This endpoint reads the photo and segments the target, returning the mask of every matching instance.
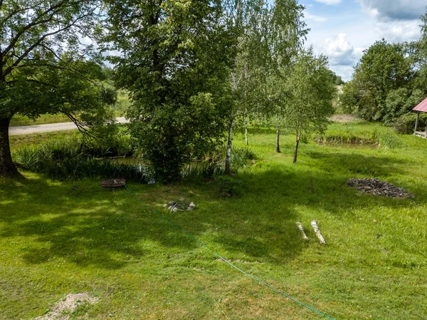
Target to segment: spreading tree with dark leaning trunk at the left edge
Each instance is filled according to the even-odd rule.
[[[78,110],[100,108],[88,80],[97,67],[86,63],[90,52],[81,43],[94,29],[100,5],[0,0],[0,175],[17,172],[8,133],[14,115],[63,112],[75,118]]]

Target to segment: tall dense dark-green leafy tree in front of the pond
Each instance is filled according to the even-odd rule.
[[[156,180],[223,139],[233,29],[221,1],[109,1],[105,41],[116,82],[130,92],[130,132]]]

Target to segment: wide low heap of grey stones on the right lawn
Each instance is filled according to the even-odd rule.
[[[369,193],[370,195],[382,195],[391,198],[415,197],[415,195],[413,195],[411,192],[379,179],[349,179],[348,185],[349,187],[355,187],[360,192]]]

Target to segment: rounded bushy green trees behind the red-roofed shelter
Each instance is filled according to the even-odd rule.
[[[406,43],[376,41],[364,51],[352,80],[342,88],[344,110],[385,124],[410,117],[427,96],[427,12],[421,16],[421,38]]]

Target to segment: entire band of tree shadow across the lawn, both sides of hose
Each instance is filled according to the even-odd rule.
[[[236,199],[213,196],[214,184],[189,185],[186,188],[194,190],[202,201],[196,211],[159,213],[228,259],[283,264],[295,259],[306,245],[295,226],[301,218],[295,210],[297,206],[336,214],[337,208],[351,212],[362,205],[406,204],[406,200],[384,197],[361,199],[354,197],[356,190],[347,188],[347,179],[356,173],[367,177],[374,173],[396,174],[403,171],[399,167],[407,165],[403,161],[310,150],[306,154],[315,169],[307,170],[307,166],[297,164],[273,165],[256,173],[241,172],[238,177],[244,182],[243,193]],[[360,166],[367,167],[366,173],[358,172]],[[43,178],[2,181],[0,238],[25,242],[25,246],[21,243],[15,249],[28,264],[62,258],[81,266],[104,269],[122,268],[162,252],[198,247],[193,239],[147,209],[126,190],[102,190],[93,180],[76,185],[73,189],[71,184]],[[156,186],[130,187],[137,197],[157,202],[167,200],[157,194]]]

